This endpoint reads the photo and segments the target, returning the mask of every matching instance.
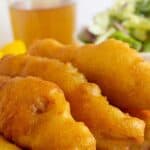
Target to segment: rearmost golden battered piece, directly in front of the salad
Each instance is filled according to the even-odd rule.
[[[64,46],[42,40],[31,47],[30,54],[72,62],[115,106],[150,109],[150,63],[121,41]]]

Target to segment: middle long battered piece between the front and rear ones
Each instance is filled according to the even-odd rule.
[[[123,150],[130,142],[144,140],[144,122],[111,106],[99,87],[87,82],[71,64],[28,55],[8,56],[0,61],[0,74],[37,76],[58,84],[70,103],[73,117],[89,127],[98,148]]]

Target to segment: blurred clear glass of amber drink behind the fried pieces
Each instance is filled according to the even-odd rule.
[[[10,0],[14,38],[27,46],[43,38],[74,43],[75,8],[73,0]]]

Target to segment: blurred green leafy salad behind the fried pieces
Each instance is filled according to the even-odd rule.
[[[101,43],[115,38],[140,52],[150,52],[150,0],[118,0],[80,33],[84,43]]]

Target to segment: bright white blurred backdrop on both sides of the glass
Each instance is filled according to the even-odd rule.
[[[76,0],[78,4],[77,29],[88,25],[92,17],[99,11],[105,10],[114,0]],[[13,40],[10,18],[8,13],[8,0],[0,0],[0,46]]]

